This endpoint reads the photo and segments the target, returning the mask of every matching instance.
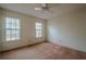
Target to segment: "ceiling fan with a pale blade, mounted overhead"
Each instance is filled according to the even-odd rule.
[[[36,11],[41,11],[41,12],[50,12],[52,13],[52,11],[50,10],[50,3],[41,3],[40,8],[35,8]]]

